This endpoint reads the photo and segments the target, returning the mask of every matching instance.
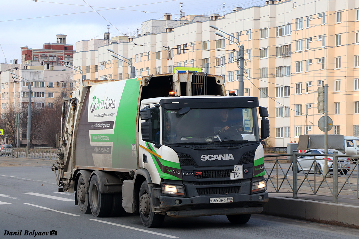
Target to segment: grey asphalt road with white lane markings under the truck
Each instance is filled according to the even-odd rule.
[[[154,229],[145,228],[138,215],[95,218],[80,213],[74,205],[74,193],[57,192],[55,175],[51,171],[54,161],[11,160],[0,157],[0,238],[49,238],[46,233],[53,230],[58,238],[76,239],[359,238],[358,229],[262,214],[252,215],[245,225],[232,225],[225,216],[167,217],[162,228]],[[9,235],[20,232],[21,235]]]

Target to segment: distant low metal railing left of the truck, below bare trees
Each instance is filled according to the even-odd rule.
[[[57,159],[58,148],[47,147],[19,147],[19,158],[38,158],[38,159]],[[5,157],[17,157],[17,148],[14,148],[13,155],[4,155]]]

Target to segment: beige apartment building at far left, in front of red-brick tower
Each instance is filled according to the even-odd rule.
[[[14,59],[13,62],[17,62]],[[32,109],[53,108],[58,97],[67,97],[79,82],[73,82],[72,70],[65,66],[48,66],[39,61],[25,61],[24,64],[0,64],[0,120],[4,120],[9,112],[23,117],[21,113],[28,108],[28,84],[31,83]],[[13,78],[14,73],[20,80]],[[77,85],[76,85],[77,83]],[[10,111],[9,111],[10,109]],[[21,122],[21,119],[20,119]],[[20,126],[21,144],[26,144],[27,125]],[[0,137],[0,143],[6,142],[6,132]],[[42,144],[37,139],[33,144]]]

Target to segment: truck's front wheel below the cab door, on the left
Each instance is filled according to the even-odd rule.
[[[139,210],[142,224],[148,228],[160,227],[164,220],[164,215],[155,214],[151,208],[151,199],[148,184],[144,181],[140,187]]]

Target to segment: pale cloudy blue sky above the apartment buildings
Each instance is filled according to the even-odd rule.
[[[0,63],[21,61],[20,47],[56,43],[56,34],[67,35],[66,43],[74,45],[103,39],[107,25],[111,37],[137,35],[143,21],[164,19],[165,13],[179,19],[180,5],[185,15],[222,16],[223,2],[225,14],[235,7],[265,5],[265,0],[0,0]]]

